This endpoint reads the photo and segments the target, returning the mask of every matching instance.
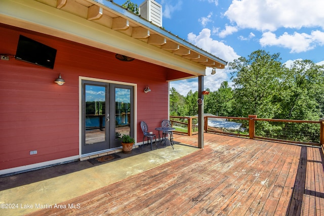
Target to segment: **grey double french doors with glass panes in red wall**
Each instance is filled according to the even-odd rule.
[[[82,80],[82,154],[121,146],[134,135],[133,86]]]

